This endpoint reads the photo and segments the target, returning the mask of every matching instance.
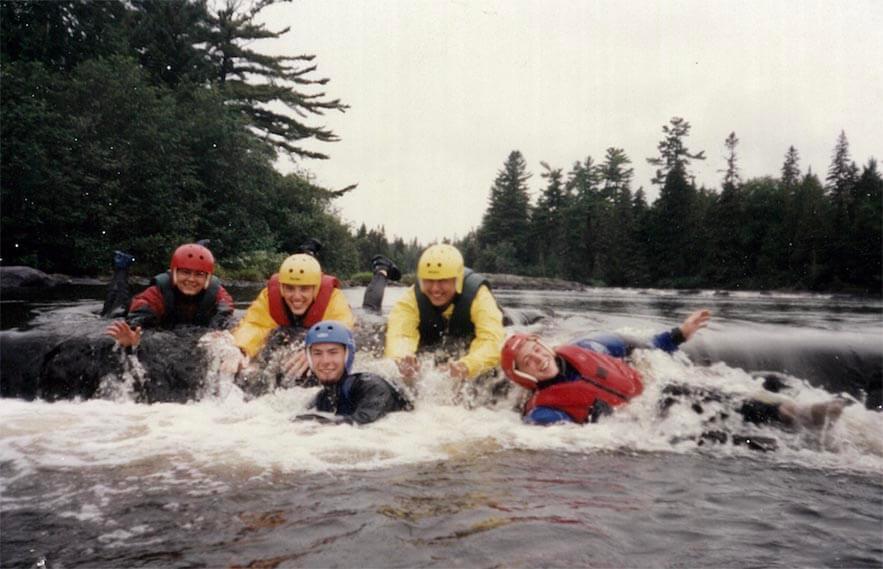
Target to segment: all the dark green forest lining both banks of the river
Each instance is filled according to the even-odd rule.
[[[74,274],[107,272],[124,249],[141,272],[200,238],[229,275],[260,279],[310,237],[329,271],[373,255],[416,266],[422,244],[358,229],[287,155],[325,159],[337,140],[315,126],[346,112],[312,55],[273,56],[282,37],[259,14],[276,0],[0,2],[0,262]],[[726,140],[719,190],[696,187],[690,125],[663,127],[659,197],[632,189],[621,148],[562,168],[541,163],[531,203],[527,162],[503,164],[484,219],[457,241],[478,270],[611,286],[881,290],[881,177],[859,168],[845,134],[824,181],[787,150],[777,176],[743,181]]]

